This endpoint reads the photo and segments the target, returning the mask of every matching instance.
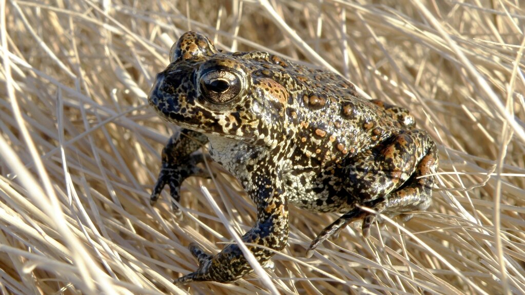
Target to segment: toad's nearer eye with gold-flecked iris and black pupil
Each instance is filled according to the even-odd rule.
[[[243,85],[236,73],[225,69],[205,72],[200,79],[201,93],[210,102],[226,103],[239,96]]]

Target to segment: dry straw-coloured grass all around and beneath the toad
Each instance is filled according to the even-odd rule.
[[[188,243],[217,252],[227,226],[241,234],[255,215],[216,164],[216,183],[184,183],[183,220],[166,192],[149,205],[176,127],[146,93],[190,29],[339,71],[412,110],[439,145],[432,206],[407,223],[369,239],[349,227],[307,259],[337,215],[292,208],[289,245],[267,271],[280,293],[525,293],[522,1],[0,3],[0,293],[270,292],[256,275],[171,283],[196,268]]]

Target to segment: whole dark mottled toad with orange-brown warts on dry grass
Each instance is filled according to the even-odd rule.
[[[193,154],[209,142],[212,159],[235,175],[257,206],[245,243],[281,250],[288,240],[288,204],[343,215],[312,241],[356,219],[367,235],[375,215],[424,210],[430,204],[436,145],[414,128],[403,108],[369,101],[332,72],[295,64],[267,52],[219,52],[204,35],[185,33],[156,77],[151,106],[181,126],[163,150],[151,195],[170,186],[174,201],[185,178],[204,176]],[[273,252],[248,247],[261,264]],[[252,271],[237,245],[212,256],[196,244],[196,271],[175,280],[232,282]]]

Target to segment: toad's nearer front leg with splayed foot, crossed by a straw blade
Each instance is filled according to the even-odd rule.
[[[244,234],[242,240],[259,264],[264,265],[274,256],[275,251],[272,250],[283,249],[288,241],[288,204],[277,173],[257,175],[250,186],[246,190],[257,205],[257,223]],[[192,281],[233,282],[253,271],[236,244],[226,246],[215,256],[206,254],[195,244],[190,245],[190,251],[197,258],[199,267],[176,279],[173,282],[175,285]]]

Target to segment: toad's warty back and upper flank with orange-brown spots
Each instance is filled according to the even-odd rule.
[[[414,126],[408,111],[361,97],[352,83],[330,71],[266,52],[235,52],[232,57],[253,77],[268,79],[267,97],[285,93],[288,125],[283,132],[295,146],[290,156],[295,168],[331,166]]]

